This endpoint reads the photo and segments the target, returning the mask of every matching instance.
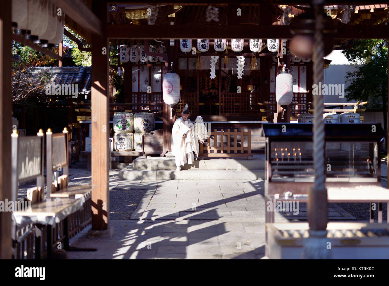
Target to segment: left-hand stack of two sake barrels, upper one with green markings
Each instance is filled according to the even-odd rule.
[[[114,113],[114,149],[132,151],[134,149],[134,115],[130,112]]]

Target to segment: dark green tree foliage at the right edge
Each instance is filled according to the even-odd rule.
[[[382,108],[386,103],[388,80],[388,46],[385,40],[356,40],[351,49],[342,54],[354,65],[356,70],[346,74],[350,82],[347,101],[368,101],[366,107]],[[386,109],[386,106],[384,107]]]

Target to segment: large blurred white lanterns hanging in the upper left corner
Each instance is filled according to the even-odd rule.
[[[57,16],[57,7],[40,0],[12,0],[12,28],[18,35],[42,47],[62,42],[65,16]]]

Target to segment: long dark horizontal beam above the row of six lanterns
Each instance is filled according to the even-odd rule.
[[[386,25],[336,25],[335,39],[386,39]],[[111,39],[291,39],[289,26],[282,25],[107,25]]]

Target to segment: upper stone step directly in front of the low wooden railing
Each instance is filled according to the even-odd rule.
[[[265,156],[256,154],[252,160],[218,158],[195,160],[192,165],[181,166],[182,170],[264,170]],[[175,157],[138,157],[133,160],[133,170],[175,170]]]

